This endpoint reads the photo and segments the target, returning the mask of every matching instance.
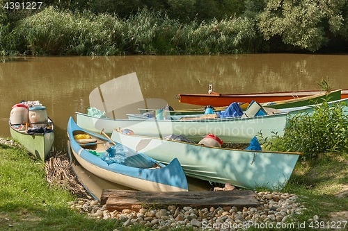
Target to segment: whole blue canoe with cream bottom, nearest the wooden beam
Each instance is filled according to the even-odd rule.
[[[68,121],[67,132],[74,157],[95,176],[141,191],[188,191],[186,176],[176,158],[165,166],[142,153],[135,153],[127,156],[125,164],[108,164],[101,157],[90,153],[105,153],[104,144],[109,142],[108,139],[80,128],[72,117]],[[74,135],[81,134],[88,134],[92,139],[74,139]],[[123,148],[127,147],[123,145]]]

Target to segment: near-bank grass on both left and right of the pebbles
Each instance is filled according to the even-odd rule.
[[[95,220],[79,214],[68,205],[77,198],[45,180],[44,163],[22,148],[3,144],[0,155],[0,230],[150,230],[139,226],[122,228],[116,219]],[[348,211],[348,195],[344,194],[348,191],[347,182],[347,153],[326,153],[313,160],[299,160],[283,189],[298,195],[307,208],[294,217],[295,223],[309,225],[308,220],[315,215],[319,221],[332,221],[331,214]],[[343,219],[335,221],[347,221]],[[295,226],[290,230],[303,229]]]

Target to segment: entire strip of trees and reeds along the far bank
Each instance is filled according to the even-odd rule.
[[[348,51],[346,0],[49,0],[37,10],[6,2],[2,55]]]

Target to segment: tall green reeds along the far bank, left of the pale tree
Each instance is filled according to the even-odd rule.
[[[121,19],[49,7],[0,35],[2,55],[230,54],[253,52],[255,28],[246,18],[180,24],[146,9]]]

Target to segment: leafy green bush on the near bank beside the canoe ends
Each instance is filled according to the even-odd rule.
[[[301,152],[305,159],[347,151],[347,105],[324,102],[315,105],[312,112],[296,113],[288,119],[283,137],[276,135],[266,141],[271,150]]]

